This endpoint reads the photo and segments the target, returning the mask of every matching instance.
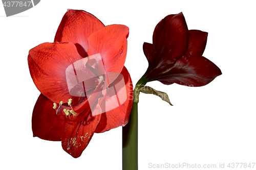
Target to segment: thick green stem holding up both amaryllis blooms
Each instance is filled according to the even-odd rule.
[[[129,122],[122,129],[122,160],[123,170],[138,170],[138,97],[139,88],[146,84],[142,77],[135,86],[133,107]]]

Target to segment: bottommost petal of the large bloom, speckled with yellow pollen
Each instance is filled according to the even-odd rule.
[[[91,114],[89,115],[91,116]],[[61,144],[63,150],[69,153],[74,158],[81,156],[86,149],[94,131],[99,123],[101,114],[87,117],[82,122],[70,122],[66,119],[62,136]]]

